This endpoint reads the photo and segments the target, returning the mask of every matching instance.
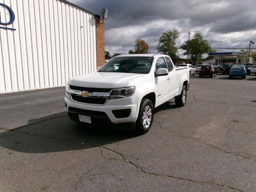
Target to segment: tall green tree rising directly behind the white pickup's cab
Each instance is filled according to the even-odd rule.
[[[156,49],[161,54],[166,54],[172,59],[176,58],[177,52],[177,40],[180,37],[180,31],[178,29],[168,30],[164,32],[160,38]]]

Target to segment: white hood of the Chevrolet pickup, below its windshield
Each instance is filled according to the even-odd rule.
[[[71,78],[68,84],[91,88],[123,88],[129,81],[144,75],[145,74],[94,72]]]

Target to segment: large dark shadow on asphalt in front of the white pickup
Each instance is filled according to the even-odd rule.
[[[137,137],[135,132],[88,128],[72,122],[66,112],[31,119],[28,124],[0,133],[0,149],[24,153],[82,150]]]

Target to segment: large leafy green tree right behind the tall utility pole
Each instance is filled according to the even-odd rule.
[[[212,49],[207,40],[203,39],[203,34],[200,31],[194,31],[194,38],[189,41],[189,56],[192,64],[196,64],[196,60],[202,58],[202,54],[209,53]],[[180,46],[185,50],[184,55],[188,54],[188,41]]]

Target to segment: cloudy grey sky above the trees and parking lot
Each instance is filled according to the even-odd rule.
[[[105,50],[110,54],[128,54],[136,38],[144,39],[157,53],[163,32],[177,28],[181,34],[177,47],[195,30],[217,52],[235,52],[256,41],[255,0],[69,0],[95,14],[107,8]],[[225,49],[233,48],[233,49]],[[256,44],[251,48],[256,48]],[[182,55],[179,50],[179,55]],[[186,56],[182,56],[186,58]]]

